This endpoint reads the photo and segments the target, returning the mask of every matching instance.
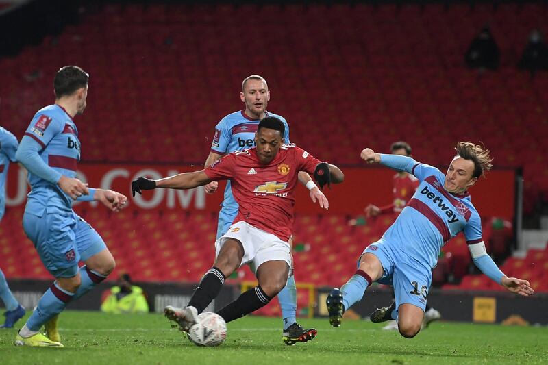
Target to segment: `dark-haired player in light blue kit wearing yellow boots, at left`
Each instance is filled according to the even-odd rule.
[[[73,118],[86,108],[88,74],[77,66],[63,67],[53,90],[55,104],[38,110],[16,153],[31,186],[23,229],[55,277],[16,336],[15,344],[34,347],[63,347],[58,314],[114,270],[114,257],[97,231],[73,211],[73,201],[101,201],[114,212],[127,201],[119,192],[88,188],[76,178],[80,141]],[[42,325],[47,336],[39,332]]]

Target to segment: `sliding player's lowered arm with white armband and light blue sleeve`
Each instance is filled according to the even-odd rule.
[[[530,287],[529,281],[504,275],[493,259],[487,254],[483,241],[469,244],[468,248],[475,266],[491,280],[503,286],[509,292],[523,295],[523,297],[529,297],[534,294],[534,289]]]

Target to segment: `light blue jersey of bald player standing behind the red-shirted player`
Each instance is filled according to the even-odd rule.
[[[284,138],[285,143],[290,144],[289,126],[287,121],[277,114],[265,112],[265,116],[275,116],[284,123],[286,128]],[[255,146],[254,138],[260,120],[251,119],[242,110],[225,116],[215,127],[215,135],[211,144],[211,151],[219,155],[225,155],[234,151],[241,151]],[[230,181],[227,181],[225,188],[225,197],[221,212],[219,212],[219,226],[217,229],[217,238],[223,236],[229,225],[238,214],[238,203],[232,196]]]

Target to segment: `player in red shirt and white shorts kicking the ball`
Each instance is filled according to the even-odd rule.
[[[330,182],[343,182],[338,167],[320,162],[295,145],[284,144],[283,136],[284,123],[269,116],[258,125],[256,147],[230,153],[195,173],[132,181],[134,194],[153,188],[191,189],[211,181],[231,181],[238,215],[215,242],[214,266],[202,277],[187,307],[168,306],[164,310],[183,331],[197,323],[198,314],[219,294],[225,279],[244,264],[255,273],[258,286],[242,293],[218,314],[228,323],[268,304],[286,285],[291,267],[288,240],[299,171],[314,174],[321,188]]]

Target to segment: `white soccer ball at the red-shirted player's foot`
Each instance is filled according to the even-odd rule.
[[[227,338],[227,324],[216,313],[201,313],[198,322],[187,333],[188,339],[197,346],[219,346]]]

